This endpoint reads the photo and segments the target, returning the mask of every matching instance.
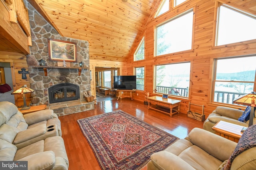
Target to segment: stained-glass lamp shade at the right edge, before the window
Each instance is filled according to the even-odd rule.
[[[233,103],[255,107],[256,106],[256,93],[251,92],[250,94],[245,94],[243,96],[239,96],[238,98],[233,100]]]

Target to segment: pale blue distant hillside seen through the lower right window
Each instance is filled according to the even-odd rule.
[[[254,81],[255,70],[234,72],[234,73],[218,73],[216,80],[242,80],[242,81]]]

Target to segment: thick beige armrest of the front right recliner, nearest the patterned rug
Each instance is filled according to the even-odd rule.
[[[237,145],[233,141],[200,128],[192,129],[185,139],[222,162],[230,157]]]

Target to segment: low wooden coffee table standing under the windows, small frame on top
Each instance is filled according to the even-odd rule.
[[[148,99],[148,109],[154,109],[162,113],[167,113],[170,115],[170,117],[172,117],[172,115],[176,113],[180,113],[181,100],[175,100],[170,98],[166,99],[160,96],[152,96],[152,97],[148,97],[147,99]]]

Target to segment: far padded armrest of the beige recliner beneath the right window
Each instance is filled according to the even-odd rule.
[[[222,116],[230,117],[236,120],[244,113],[243,110],[223,106],[216,107],[215,112]]]

